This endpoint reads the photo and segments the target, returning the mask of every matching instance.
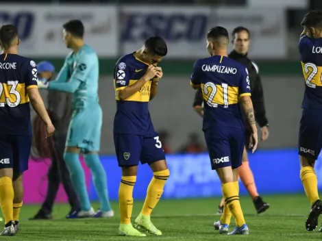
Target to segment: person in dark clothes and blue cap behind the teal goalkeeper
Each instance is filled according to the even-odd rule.
[[[40,62],[37,65],[38,78],[50,81],[55,71],[54,66],[49,62]],[[56,131],[53,136],[53,153],[51,154],[51,166],[48,170],[48,186],[44,203],[38,213],[29,220],[51,219],[53,203],[58,192],[60,183],[64,186],[64,190],[68,196],[71,212],[77,212],[80,209],[77,194],[73,188],[69,170],[64,162],[64,149],[67,136],[67,130],[72,115],[72,96],[69,93],[51,90],[47,96],[47,110]],[[39,141],[39,140],[38,140]],[[67,218],[69,217],[67,214]]]

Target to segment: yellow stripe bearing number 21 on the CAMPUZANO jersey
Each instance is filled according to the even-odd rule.
[[[227,84],[201,84],[203,99],[208,104],[233,105],[238,103],[238,87]]]

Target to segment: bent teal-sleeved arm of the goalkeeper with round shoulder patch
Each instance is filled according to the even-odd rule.
[[[86,81],[88,73],[92,69],[94,61],[92,61],[92,54],[84,54],[79,57],[77,65],[71,75],[69,81],[60,83],[55,81],[50,81],[48,89],[49,90],[59,90],[62,92],[73,93],[77,90],[79,85]]]

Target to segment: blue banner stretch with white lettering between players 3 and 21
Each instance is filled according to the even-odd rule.
[[[221,195],[221,182],[211,169],[209,155],[168,156],[166,163],[171,175],[166,181],[164,196],[180,198]]]

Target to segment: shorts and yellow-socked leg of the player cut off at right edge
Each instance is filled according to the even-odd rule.
[[[317,175],[314,163],[319,156],[322,144],[321,118],[315,110],[303,110],[299,128],[299,159],[300,177],[306,196],[310,200],[312,209],[306,220],[306,229],[313,231],[318,225],[319,215],[322,213],[322,201],[319,199]]]

